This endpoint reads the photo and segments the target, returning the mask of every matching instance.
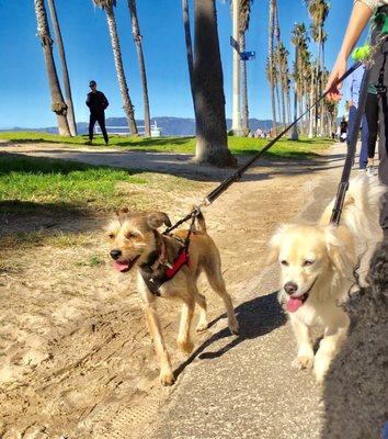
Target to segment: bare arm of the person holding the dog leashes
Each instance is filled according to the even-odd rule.
[[[357,43],[360,35],[368,24],[376,4],[376,0],[357,0],[354,3],[341,50],[326,87],[326,90],[330,90],[329,98],[333,100],[339,100],[341,98],[341,85],[334,86],[334,83],[346,72],[347,58]]]

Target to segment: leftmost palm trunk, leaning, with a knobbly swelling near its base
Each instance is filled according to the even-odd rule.
[[[41,38],[45,56],[48,86],[52,97],[52,110],[57,115],[59,134],[70,136],[69,124],[66,117],[67,105],[60,90],[58,74],[53,57],[53,40],[49,33],[44,0],[34,0],[34,5],[37,21],[37,35]]]

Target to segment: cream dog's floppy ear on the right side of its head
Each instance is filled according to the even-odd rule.
[[[352,277],[355,258],[351,248],[336,236],[335,227],[324,227],[324,240],[332,267],[346,277]]]

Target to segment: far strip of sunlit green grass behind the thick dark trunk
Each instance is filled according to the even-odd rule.
[[[34,132],[3,132],[0,133],[0,139],[9,140],[11,143],[60,143],[69,146],[83,146],[87,137],[62,137],[48,133],[34,133]],[[247,138],[247,137],[229,137],[228,144],[232,154],[255,154],[269,140]],[[298,142],[292,142],[284,138],[276,143],[270,151],[266,153],[269,157],[296,157],[304,158],[313,154],[319,154],[333,140],[323,138],[307,139],[301,138]],[[145,150],[155,153],[186,153],[194,154],[195,138],[194,137],[159,137],[159,138],[144,138],[144,137],[127,137],[127,136],[112,136],[110,137],[111,147],[118,147],[126,150]],[[94,147],[105,147],[101,136],[94,140]]]

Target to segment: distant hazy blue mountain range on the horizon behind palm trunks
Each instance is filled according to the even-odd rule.
[[[144,121],[139,120],[136,121],[137,125],[139,126],[139,131],[141,132],[141,127],[144,126]],[[185,117],[152,117],[151,119],[152,125],[157,123],[158,127],[161,128],[162,136],[194,136],[195,135],[195,120],[194,119],[185,119]],[[127,120],[125,117],[107,117],[106,119],[106,126],[123,126],[127,127]],[[258,119],[250,119],[249,126],[252,132],[256,131],[258,128],[263,131],[270,131],[272,126],[272,121],[265,120],[260,121]],[[228,130],[231,128],[231,120],[227,119],[227,127]],[[87,122],[79,122],[77,124],[77,130],[79,134],[87,134],[88,133],[88,123]],[[22,127],[14,127],[12,130],[0,130],[0,131],[33,131],[33,132],[46,132],[57,134],[57,127],[45,127],[45,128],[22,128]]]

